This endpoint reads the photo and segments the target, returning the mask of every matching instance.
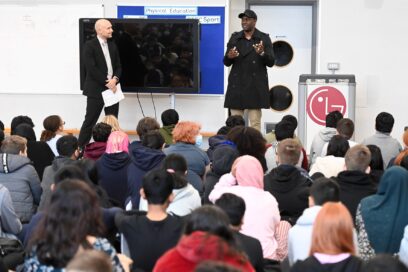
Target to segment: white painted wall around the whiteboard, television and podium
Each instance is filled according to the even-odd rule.
[[[54,1],[4,1],[0,4],[61,4]],[[174,1],[176,2],[176,1]],[[174,4],[172,2],[172,4]],[[223,0],[193,1],[177,0],[185,5],[209,5]],[[228,1],[227,1],[228,2]],[[116,16],[117,4],[166,4],[167,0],[145,1],[92,1],[71,0],[70,3],[101,3],[105,16]],[[245,0],[230,2],[230,33],[241,29],[238,13],[245,9]],[[0,7],[1,8],[1,7]],[[328,73],[327,62],[340,62],[342,74],[355,74],[357,80],[356,140],[360,141],[374,131],[374,119],[380,111],[392,113],[396,119],[393,136],[401,138],[403,127],[408,125],[404,102],[408,101],[405,90],[408,53],[408,2],[406,0],[343,0],[320,1],[318,30],[317,71]],[[10,26],[3,26],[10,27]],[[227,39],[228,39],[227,35]],[[3,41],[4,42],[4,41]],[[0,45],[1,50],[1,45]],[[39,71],[39,76],[52,76],[51,71]],[[2,78],[2,80],[7,80]],[[271,83],[272,84],[272,83]],[[150,97],[141,96],[145,114],[153,115]],[[166,96],[155,96],[156,111],[169,107]],[[36,106],[37,105],[37,106]],[[182,119],[201,122],[203,130],[216,131],[225,119],[222,97],[177,96],[176,109]],[[33,117],[37,127],[49,114],[59,113],[67,127],[79,128],[85,113],[85,98],[78,95],[13,95],[0,94],[0,120],[8,125],[18,114]],[[141,118],[135,95],[128,95],[120,109],[120,122],[125,129],[134,129]]]

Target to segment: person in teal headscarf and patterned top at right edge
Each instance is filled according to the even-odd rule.
[[[398,252],[408,225],[408,171],[400,166],[387,169],[377,193],[361,200],[356,228],[359,255],[368,260],[379,253]]]

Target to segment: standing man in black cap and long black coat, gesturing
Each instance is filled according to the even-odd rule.
[[[231,35],[224,56],[224,65],[232,65],[224,107],[232,115],[243,116],[248,110],[250,125],[260,130],[261,109],[270,107],[266,67],[275,63],[272,42],[268,34],[255,28],[255,12],[247,9],[238,18],[243,30]]]

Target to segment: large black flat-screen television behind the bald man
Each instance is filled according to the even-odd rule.
[[[97,19],[80,19],[81,89],[87,40]],[[124,92],[197,93],[200,90],[199,23],[193,19],[108,19],[122,64]]]

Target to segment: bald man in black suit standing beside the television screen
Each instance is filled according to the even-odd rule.
[[[87,97],[85,120],[79,133],[79,146],[84,147],[92,135],[92,128],[98,121],[104,107],[102,92],[111,89],[116,92],[116,85],[122,73],[119,52],[112,38],[112,24],[106,19],[95,23],[97,37],[86,42],[83,60],[85,63],[85,82],[83,95]],[[118,117],[119,103],[105,107],[105,114]]]

